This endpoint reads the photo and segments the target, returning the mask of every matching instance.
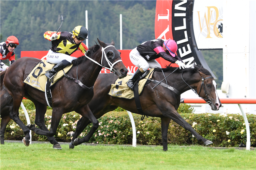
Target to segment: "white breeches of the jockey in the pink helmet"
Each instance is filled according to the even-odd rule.
[[[130,60],[135,66],[142,68],[146,71],[148,68],[161,68],[161,65],[156,60],[146,61],[143,56],[140,55],[137,47],[131,50]]]

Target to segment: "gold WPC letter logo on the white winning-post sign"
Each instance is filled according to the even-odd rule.
[[[200,11],[198,13],[199,27],[201,34],[204,34],[205,38],[213,38],[211,35],[211,30],[213,30],[213,34],[218,37],[223,37],[223,19],[219,19],[220,13],[216,6],[206,6],[207,14],[204,13],[204,17],[200,17]],[[213,9],[213,10],[212,10]],[[222,16],[222,14],[221,14]]]

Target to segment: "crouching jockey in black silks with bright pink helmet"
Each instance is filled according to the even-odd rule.
[[[148,68],[161,68],[161,65],[155,60],[162,57],[165,60],[176,63],[180,69],[186,68],[181,58],[175,55],[177,51],[177,44],[174,40],[153,39],[146,41],[137,46],[130,52],[130,60],[132,64],[139,67],[132,75],[131,79],[126,83],[132,89],[134,83],[139,76],[143,74]]]

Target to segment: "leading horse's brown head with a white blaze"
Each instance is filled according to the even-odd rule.
[[[206,69],[205,69],[206,70]],[[207,70],[208,71],[208,70]],[[217,94],[217,83],[211,75],[199,71],[201,81],[197,86],[197,93],[211,106],[212,110],[217,111],[221,107],[221,101]]]

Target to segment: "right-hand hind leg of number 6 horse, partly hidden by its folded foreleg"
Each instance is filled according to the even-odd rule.
[[[39,103],[38,101],[35,101],[35,100],[33,100],[33,102],[35,105],[35,124],[37,124],[40,129],[42,129],[44,131],[48,131],[48,129],[45,126],[45,122],[44,122],[44,115],[46,113],[47,106],[45,106],[44,104]],[[46,137],[48,138],[50,143],[53,144],[54,149],[61,149],[59,143],[57,142],[57,140],[55,139],[54,136],[52,136],[52,137],[46,136]]]

